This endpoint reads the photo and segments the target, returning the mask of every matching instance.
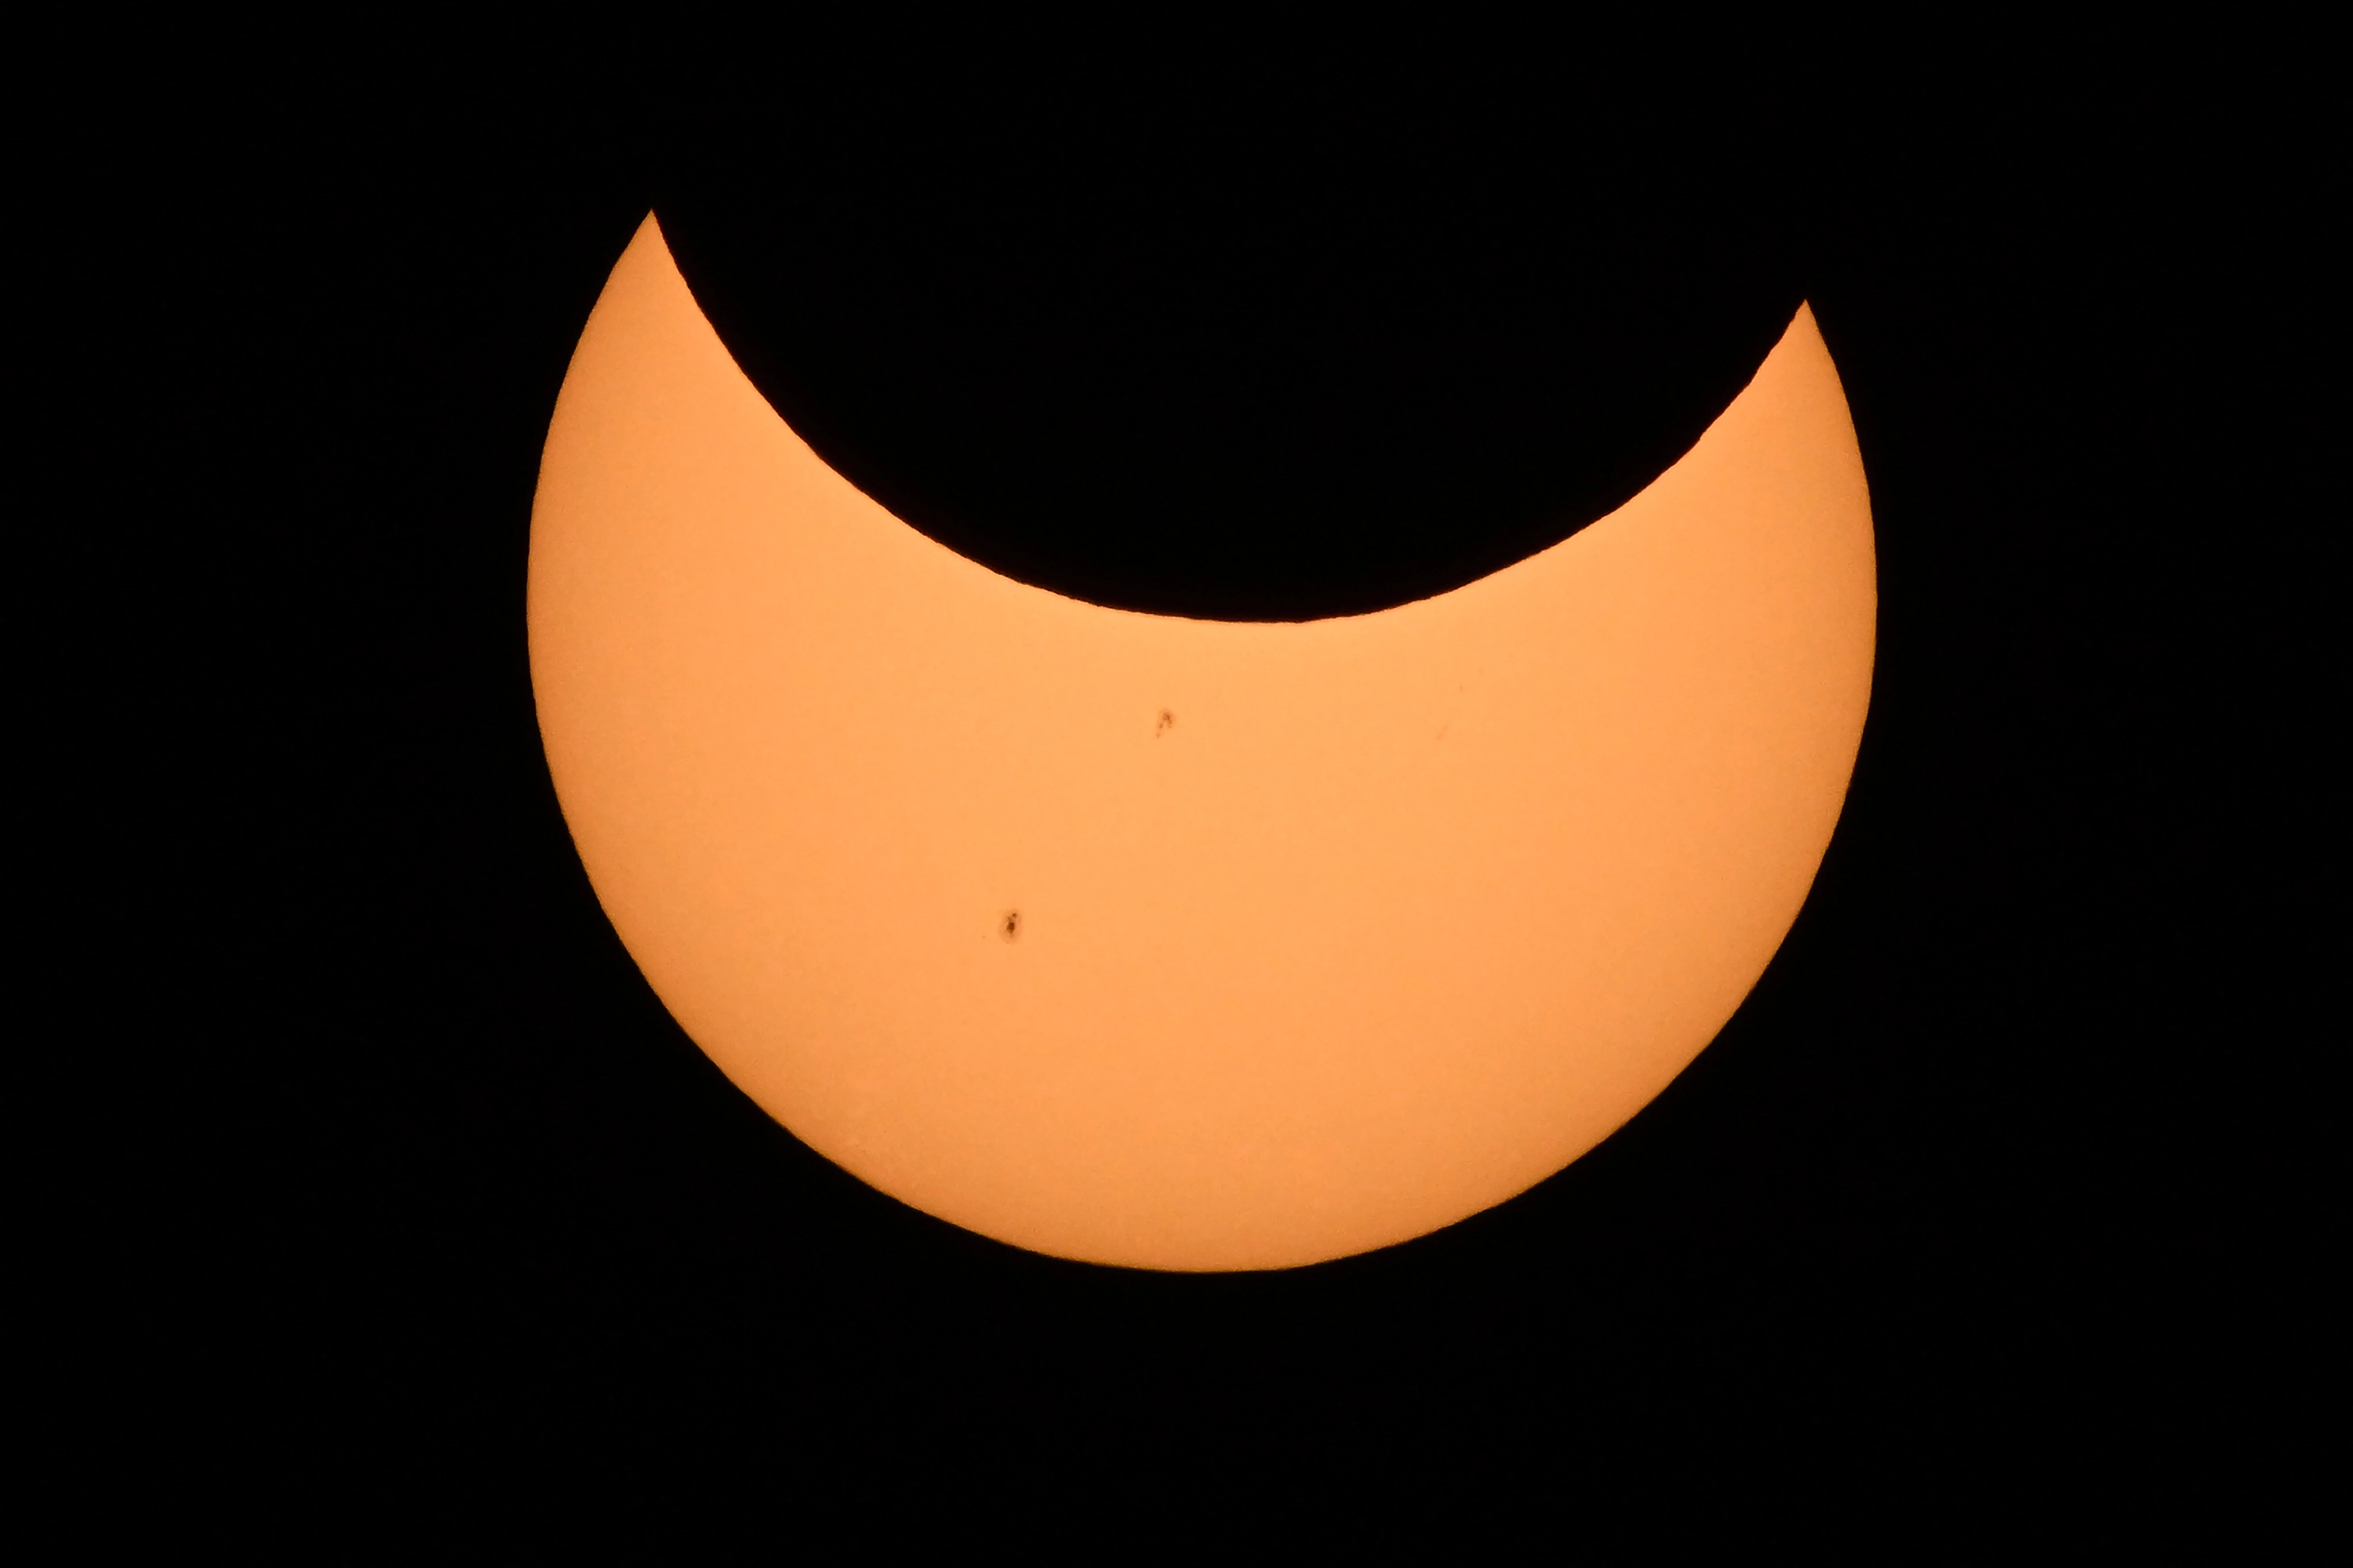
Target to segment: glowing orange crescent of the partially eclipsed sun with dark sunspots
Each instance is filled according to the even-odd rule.
[[[833,473],[649,216],[527,618],[591,884],[744,1093],[1007,1244],[1273,1269],[1527,1190],[1706,1048],[1838,820],[1875,567],[1800,308],[1654,484],[1464,588],[1082,604]]]

